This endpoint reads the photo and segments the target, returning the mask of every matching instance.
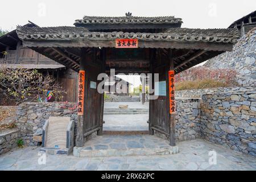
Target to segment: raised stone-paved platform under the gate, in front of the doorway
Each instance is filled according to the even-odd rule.
[[[102,135],[92,138],[84,147],[74,147],[73,155],[83,158],[111,156],[170,155],[179,152],[168,140],[152,135]]]

